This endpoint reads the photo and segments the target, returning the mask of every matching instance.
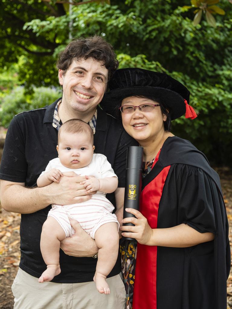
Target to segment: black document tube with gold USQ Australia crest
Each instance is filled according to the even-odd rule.
[[[135,217],[126,212],[125,208],[139,210],[140,192],[142,187],[143,147],[127,147],[126,184],[124,195],[123,218]],[[123,223],[124,226],[134,226],[133,223]],[[133,239],[125,237],[125,239]]]

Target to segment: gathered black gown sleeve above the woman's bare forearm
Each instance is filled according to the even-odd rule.
[[[216,185],[200,168],[182,165],[177,179],[178,224],[187,223],[200,233],[217,233]]]

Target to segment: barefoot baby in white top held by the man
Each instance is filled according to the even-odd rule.
[[[93,280],[100,293],[110,294],[106,276],[113,269],[118,257],[119,223],[114,206],[105,193],[114,192],[118,177],[110,163],[101,154],[94,154],[93,132],[82,120],[66,121],[58,131],[58,158],[51,160],[37,180],[38,187],[59,182],[64,172],[75,171],[86,175],[86,193],[97,191],[89,201],[72,205],[52,205],[41,233],[41,253],[47,265],[39,282],[51,281],[61,272],[59,265],[60,242],[73,234],[69,217],[75,219],[93,239],[98,251],[96,272]]]

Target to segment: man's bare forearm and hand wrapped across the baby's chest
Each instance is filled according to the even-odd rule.
[[[0,181],[1,205],[6,211],[31,214],[54,203],[69,205],[88,201],[85,188],[79,182],[83,176],[65,177],[42,188],[26,188],[24,183]]]

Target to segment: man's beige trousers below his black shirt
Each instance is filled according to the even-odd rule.
[[[106,279],[110,294],[100,294],[95,282],[39,283],[19,268],[11,287],[14,309],[125,309],[126,291],[120,275]]]

